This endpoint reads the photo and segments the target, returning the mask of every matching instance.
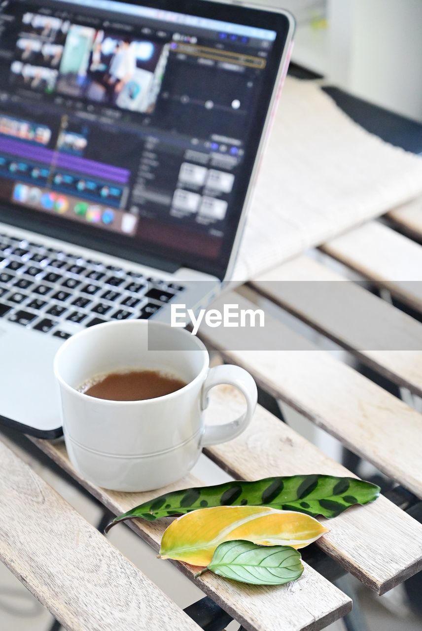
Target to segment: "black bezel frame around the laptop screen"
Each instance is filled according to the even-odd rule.
[[[117,1],[119,3],[127,2],[127,0]],[[208,0],[184,0],[183,2],[180,0],[130,0],[130,3],[187,15],[219,19],[245,26],[266,28],[277,33],[269,64],[265,71],[266,85],[261,93],[263,106],[259,114],[255,115],[254,130],[249,138],[248,150],[245,152],[245,160],[242,165],[242,180],[237,199],[238,210],[236,213],[232,213],[230,224],[226,227],[220,256],[216,260],[206,259],[189,252],[180,252],[171,247],[142,241],[136,237],[126,237],[125,235],[98,230],[98,228],[75,225],[73,221],[66,220],[64,217],[26,209],[12,201],[7,203],[1,201],[0,221],[141,264],[151,265],[153,262],[155,266],[169,270],[181,267],[196,269],[223,280],[232,256],[233,244],[238,240],[242,213],[250,189],[250,179],[259,155],[262,134],[267,123],[274,90],[278,83],[286,44],[290,39],[291,17],[284,12],[264,11],[250,6],[223,4]],[[62,6],[66,6],[66,4],[62,3]],[[69,6],[77,5],[69,3]]]

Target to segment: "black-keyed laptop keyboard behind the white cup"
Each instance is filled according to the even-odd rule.
[[[148,319],[183,286],[0,235],[0,317],[67,339],[101,322]]]

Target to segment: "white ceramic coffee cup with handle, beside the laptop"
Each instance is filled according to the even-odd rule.
[[[151,335],[163,350],[148,348]],[[108,401],[78,391],[97,375],[127,369],[167,372],[187,385],[142,401]],[[85,329],[57,351],[54,373],[73,466],[86,480],[116,491],[155,490],[179,480],[202,447],[242,433],[257,403],[257,387],[246,370],[228,365],[210,369],[199,339],[158,322],[107,322]],[[237,387],[246,411],[225,425],[204,425],[208,392],[218,384]]]

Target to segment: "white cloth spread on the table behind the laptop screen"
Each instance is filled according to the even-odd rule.
[[[233,280],[248,280],[422,193],[422,158],[352,121],[313,81],[288,78]]]

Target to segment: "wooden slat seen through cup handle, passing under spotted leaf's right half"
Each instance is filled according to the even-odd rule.
[[[228,388],[212,401],[209,415],[215,420],[228,413],[234,418],[243,405],[242,396]],[[353,475],[261,407],[240,437],[211,447],[208,454],[245,480],[298,473]],[[318,541],[322,550],[380,594],[422,569],[422,524],[385,497],[325,520],[325,526],[331,532]]]

